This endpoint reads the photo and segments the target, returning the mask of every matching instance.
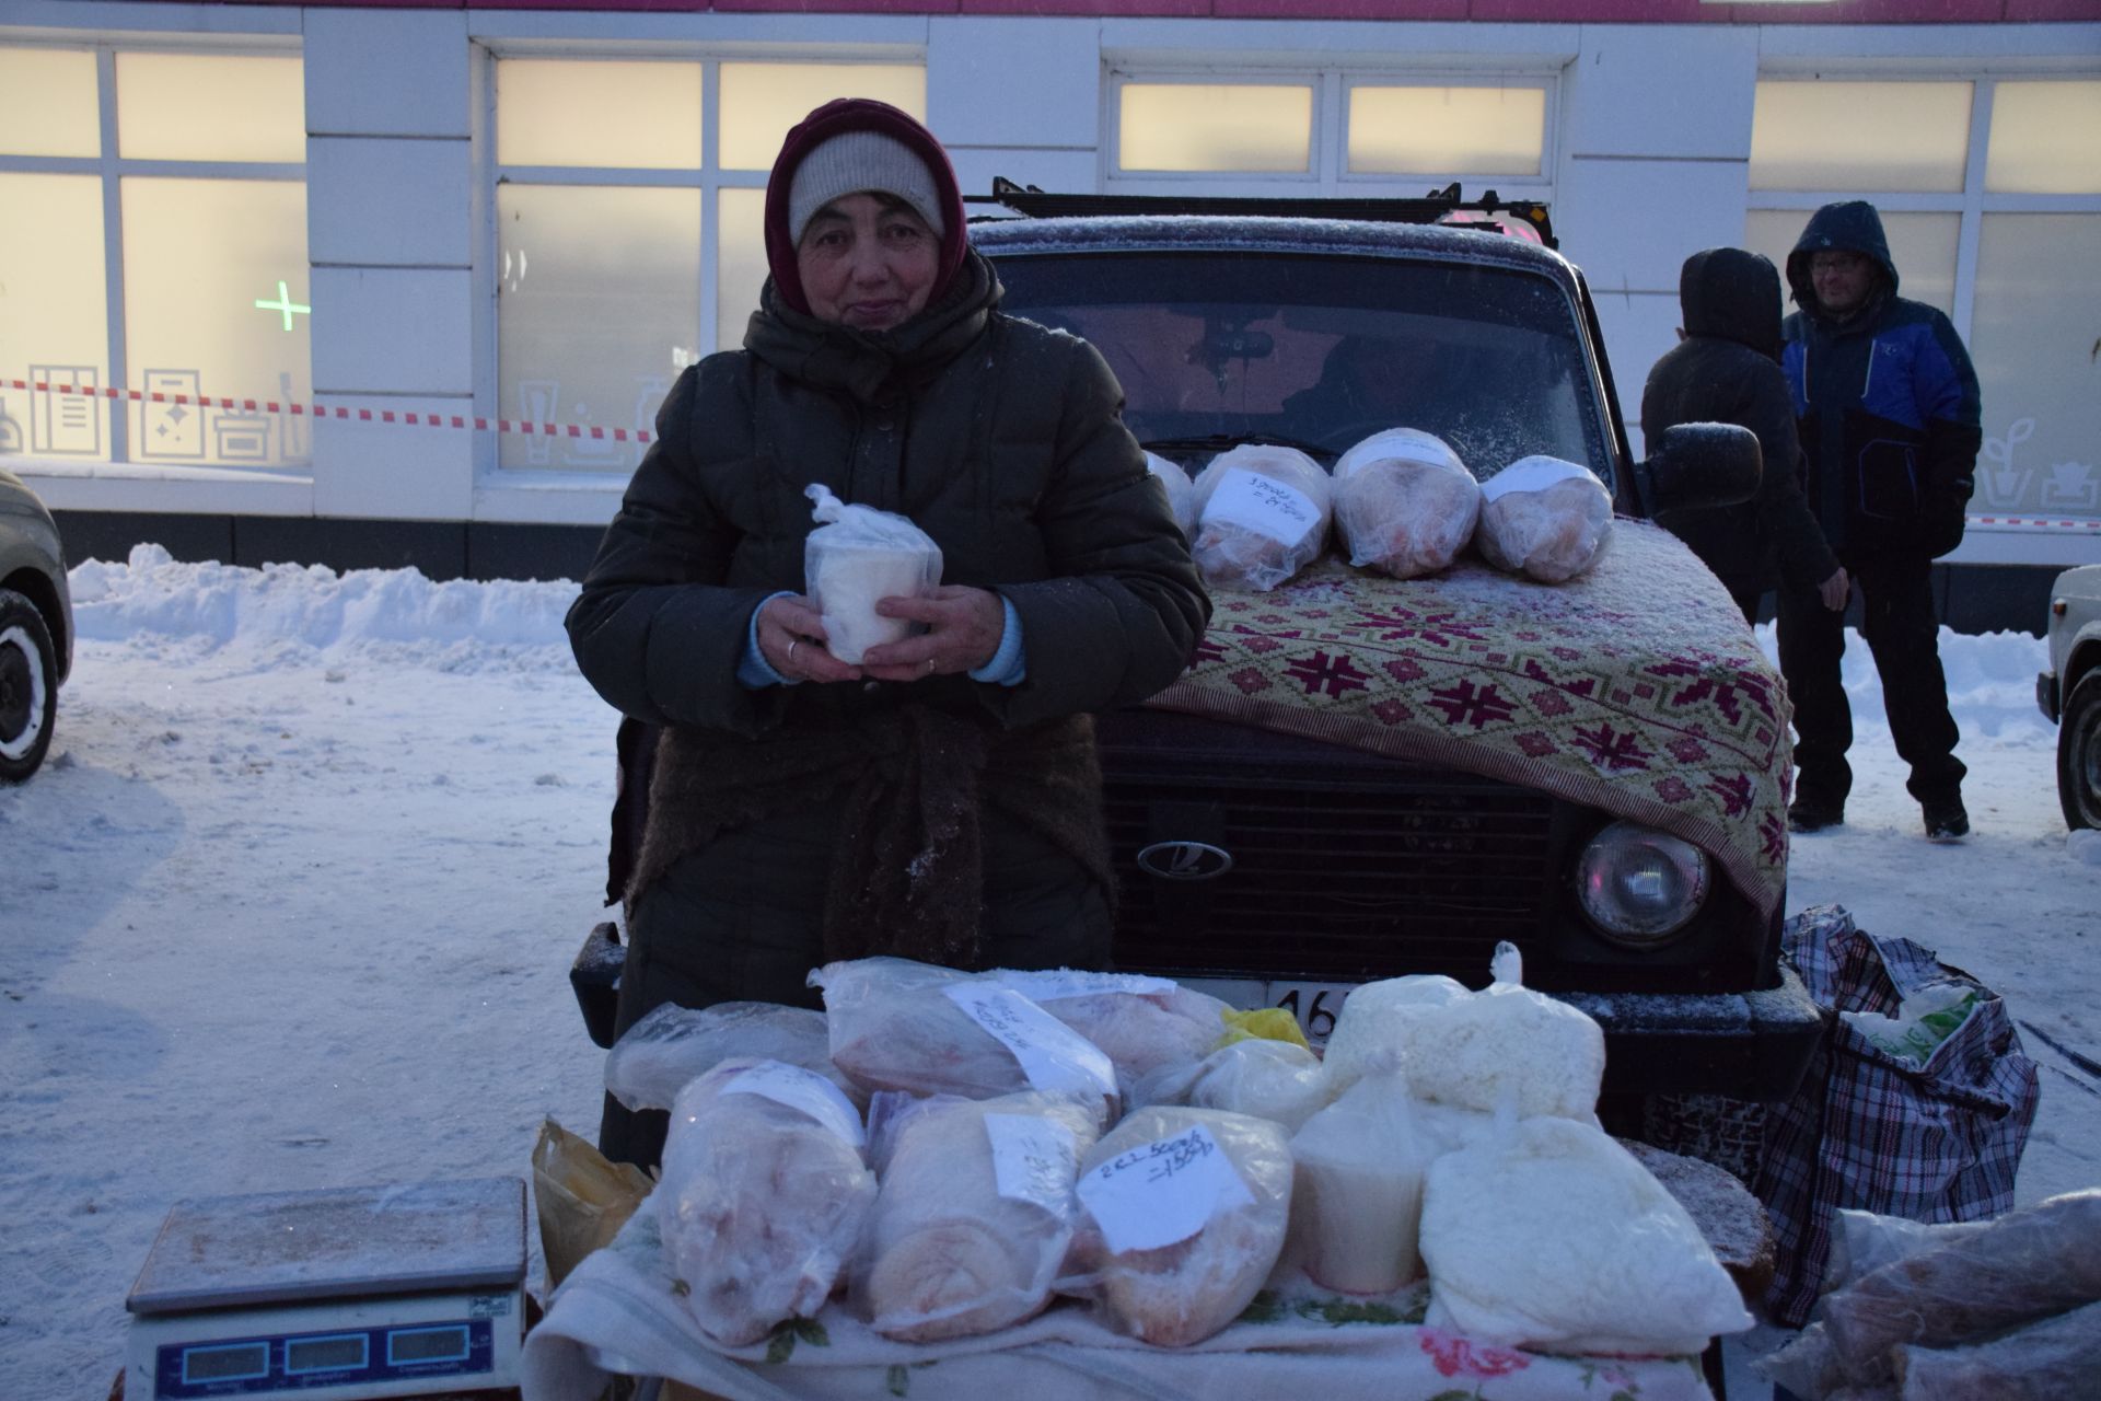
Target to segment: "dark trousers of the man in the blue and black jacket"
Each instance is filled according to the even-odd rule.
[[[1933,613],[1933,561],[1925,557],[1845,559],[1861,605],[1859,634],[1882,678],[1882,710],[1897,756],[1912,767],[1906,788],[1918,802],[1962,796],[1967,769],[1956,758],[1956,718],[1948,712],[1939,620]],[[1782,584],[1780,674],[1794,702],[1794,798],[1843,809],[1853,790],[1845,752],[1853,746],[1838,660],[1845,655],[1845,613],[1824,607],[1813,588]]]

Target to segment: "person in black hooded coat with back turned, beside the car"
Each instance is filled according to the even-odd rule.
[[[1794,405],[1780,372],[1780,269],[1742,248],[1706,248],[1679,271],[1679,309],[1683,340],[1649,370],[1641,435],[1653,449],[1677,424],[1738,424],[1759,437],[1765,466],[1752,500],[1658,523],[1714,571],[1746,622],[1759,620],[1775,578],[1843,609],[1845,569],[1803,498]]]

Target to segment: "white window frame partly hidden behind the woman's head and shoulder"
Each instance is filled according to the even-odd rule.
[[[523,166],[502,164],[496,155],[496,63],[502,59],[546,59],[546,61],[662,61],[700,65],[700,168],[698,170],[651,170],[622,166]],[[498,279],[502,277],[502,231],[496,221],[496,189],[515,185],[592,185],[601,189],[698,189],[700,191],[700,323],[693,328],[698,355],[712,355],[725,347],[714,344],[714,328],[721,319],[721,221],[719,193],[725,189],[765,189],[769,170],[725,168],[721,164],[721,99],[725,63],[803,63],[838,67],[889,67],[916,63],[927,67],[924,44],[855,44],[838,48],[828,44],[769,44],[769,46],[670,46],[651,44],[544,44],[544,42],[502,42],[492,38],[475,40],[477,65],[477,130],[485,137],[477,143],[477,229],[475,229],[475,298],[485,311],[475,323],[475,412],[496,418],[502,403],[502,365],[498,363],[500,311]],[[500,466],[498,454],[490,454],[477,464],[477,487],[548,487],[586,485],[603,487],[607,481],[624,483],[628,471],[592,468],[513,468]]]

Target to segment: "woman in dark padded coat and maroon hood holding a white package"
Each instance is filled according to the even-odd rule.
[[[1168,685],[1210,613],[1116,378],[996,311],[927,128],[813,111],[765,237],[744,349],[672,386],[567,618],[599,695],[662,727],[622,1031],[662,1002],[815,1006],[834,958],[1107,966],[1088,714]],[[857,664],[800,592],[811,483],[941,546],[937,588],[878,605],[918,628]],[[660,1143],[609,1105],[607,1155]]]

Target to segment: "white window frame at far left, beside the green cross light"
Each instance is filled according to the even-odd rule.
[[[103,189],[103,294],[107,300],[105,347],[109,353],[109,384],[116,399],[105,399],[109,410],[109,441],[95,462],[122,462],[141,466],[166,477],[221,477],[240,481],[296,479],[311,477],[311,462],[288,462],[277,466],[187,466],[181,462],[134,462],[130,456],[130,359],[126,353],[124,328],[124,202],[122,181],[126,176],[160,176],[191,181],[307,181],[307,162],[250,162],[250,160],[137,160],[118,155],[118,55],[120,53],[174,53],[195,57],[231,59],[300,59],[296,40],[263,38],[250,42],[193,44],[151,38],[124,40],[36,40],[8,38],[11,48],[50,48],[63,53],[95,55],[95,111],[99,126],[99,147],[95,155],[6,155],[0,153],[0,172],[8,174],[92,174]],[[300,134],[305,141],[305,132]],[[311,372],[311,365],[309,365]],[[42,466],[69,471],[82,458],[27,458]]]

